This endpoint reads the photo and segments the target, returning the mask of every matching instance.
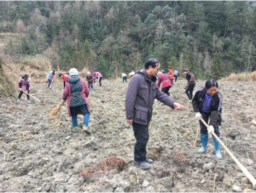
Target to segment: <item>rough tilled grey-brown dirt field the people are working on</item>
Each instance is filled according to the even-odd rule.
[[[197,81],[194,92],[205,81]],[[255,82],[218,81],[223,94],[223,142],[256,177]],[[178,79],[172,97],[184,88]],[[61,102],[62,83],[32,83],[31,99],[20,104],[14,98],[0,100],[0,192],[255,192],[250,181],[222,149],[223,160],[212,154],[211,137],[206,154],[200,146],[199,123],[187,96],[177,100],[187,109],[174,111],[155,100],[148,155],[154,159],[149,170],[135,167],[133,129],[125,120],[126,83],[103,80],[89,95],[90,123],[95,139],[71,131],[63,106],[60,119],[49,116]],[[82,122],[82,116],[79,116]],[[88,166],[107,156],[119,156],[126,165],[102,171],[90,178],[79,176]]]

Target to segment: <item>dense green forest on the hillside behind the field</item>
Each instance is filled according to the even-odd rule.
[[[253,1],[2,1],[0,31],[17,35],[5,48],[13,60],[44,54],[55,69],[105,77],[150,57],[197,78],[256,67]]]

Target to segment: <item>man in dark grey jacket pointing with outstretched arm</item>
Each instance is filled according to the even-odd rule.
[[[130,80],[125,100],[127,123],[133,125],[136,144],[134,148],[134,164],[142,169],[149,169],[153,160],[147,158],[146,145],[149,140],[149,122],[152,117],[154,99],[179,110],[184,108],[167,94],[158,90],[156,75],[160,69],[159,60],[150,58],[145,68],[136,72]]]

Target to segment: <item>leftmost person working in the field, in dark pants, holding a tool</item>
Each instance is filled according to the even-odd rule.
[[[17,102],[20,103],[21,102],[21,96],[24,92],[29,94],[30,91],[30,81],[31,79],[29,78],[28,74],[24,74],[22,77],[20,77],[19,79],[19,88],[20,88],[20,93],[17,99]],[[29,95],[27,95],[27,102],[30,102],[30,98]]]

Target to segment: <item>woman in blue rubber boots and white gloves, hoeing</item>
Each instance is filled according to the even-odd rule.
[[[201,148],[197,152],[205,153],[208,144],[208,134],[214,131],[218,138],[220,138],[218,126],[221,125],[222,121],[222,95],[218,91],[218,83],[215,79],[207,80],[205,87],[201,87],[196,91],[192,99],[192,105],[194,112],[197,112],[196,117],[202,116],[206,123],[208,123],[210,118],[208,131],[206,126],[199,121]],[[212,137],[212,141],[215,156],[217,159],[222,159],[220,143],[214,137]]]

